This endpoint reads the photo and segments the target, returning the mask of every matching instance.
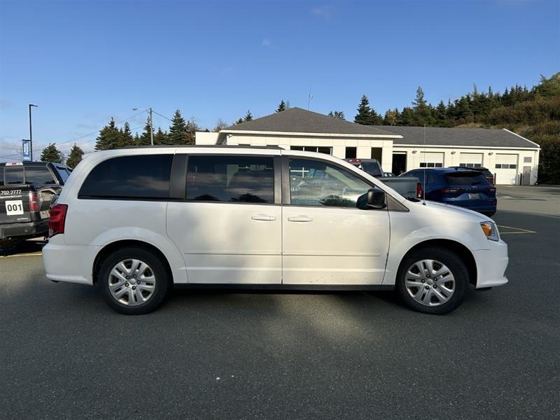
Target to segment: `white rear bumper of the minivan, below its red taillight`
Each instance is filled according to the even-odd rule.
[[[92,284],[95,255],[101,246],[66,245],[64,235],[55,235],[43,247],[43,265],[47,279]]]

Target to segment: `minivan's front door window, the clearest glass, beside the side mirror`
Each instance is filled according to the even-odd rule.
[[[290,202],[293,205],[365,208],[365,197],[371,188],[335,165],[290,159]]]

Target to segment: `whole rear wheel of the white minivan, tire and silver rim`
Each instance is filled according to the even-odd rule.
[[[110,307],[121,314],[148,314],[169,293],[169,274],[160,258],[144,248],[124,248],[109,255],[97,283]]]

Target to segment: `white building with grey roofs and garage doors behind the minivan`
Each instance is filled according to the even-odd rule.
[[[386,172],[418,167],[486,167],[498,184],[534,184],[540,147],[508,130],[359,125],[290,108],[233,125],[197,132],[196,144],[280,146],[337,158],[376,158]]]

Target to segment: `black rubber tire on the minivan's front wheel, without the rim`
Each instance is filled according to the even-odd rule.
[[[449,271],[454,277],[455,283],[454,292],[452,293],[451,297],[449,297],[449,300],[447,300],[447,302],[437,304],[437,306],[428,306],[428,304],[417,302],[409,293],[407,287],[405,286],[405,276],[407,275],[408,269],[412,267],[415,262],[419,262],[421,260],[435,260],[449,268]],[[468,284],[469,277],[467,267],[465,266],[463,260],[461,260],[461,258],[459,258],[456,253],[445,248],[426,247],[419,248],[410,252],[405,256],[402,262],[400,262],[395,288],[396,290],[398,290],[401,299],[411,309],[423,312],[425,314],[443,315],[449,314],[449,312],[456,309],[461,304],[461,302],[463,302],[463,297],[465,296],[465,290],[468,288]],[[428,284],[426,283],[426,287],[433,286],[428,286]],[[419,292],[419,288],[411,288],[410,290],[418,290]],[[441,290],[442,289],[440,287],[438,291]],[[424,296],[426,296],[426,294],[424,294]],[[434,300],[438,300],[437,297],[434,297]]]

